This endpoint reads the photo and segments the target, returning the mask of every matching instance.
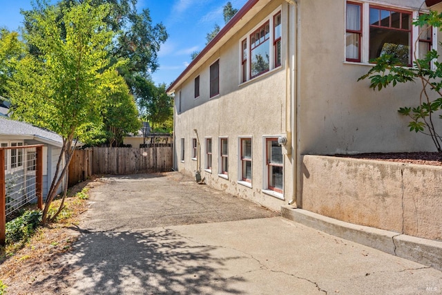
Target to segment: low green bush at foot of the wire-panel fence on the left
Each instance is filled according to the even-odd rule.
[[[26,211],[22,216],[6,223],[6,245],[28,240],[41,222],[41,211]],[[1,287],[1,285],[0,285]]]

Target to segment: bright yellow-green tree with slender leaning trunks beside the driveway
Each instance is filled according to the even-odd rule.
[[[108,55],[115,37],[104,21],[110,12],[111,6],[92,6],[88,0],[72,8],[41,6],[32,10],[35,30],[23,35],[39,54],[21,59],[12,79],[13,115],[63,138],[57,177],[44,206],[44,224],[54,220],[63,209],[62,201],[59,210],[48,216],[49,205],[68,174],[75,143],[88,142],[91,134],[101,128],[106,100],[124,84],[124,79],[117,75],[119,64],[111,66]]]

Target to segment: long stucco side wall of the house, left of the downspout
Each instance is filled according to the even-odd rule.
[[[288,17],[285,1],[271,1],[257,17],[224,44],[203,66],[175,91],[175,169],[193,174],[200,170],[191,159],[192,138],[197,129],[200,139],[200,167],[206,184],[274,210],[294,196],[292,155],[285,155],[284,193],[281,198],[263,192],[265,187],[265,137],[278,137],[289,130],[287,124],[287,79],[282,65],[249,82],[240,84],[240,39],[282,5],[282,18]],[[287,47],[287,30],[283,29]],[[286,50],[286,49],[284,49]],[[209,67],[220,61],[220,95],[209,98]],[[194,79],[200,75],[200,97],[194,98]],[[181,99],[179,99],[181,95]],[[181,106],[178,104],[181,102]],[[179,109],[181,108],[181,112]],[[288,119],[289,120],[289,119]],[[205,139],[212,139],[212,169],[205,170]],[[220,171],[220,137],[229,141],[229,175]],[[252,181],[244,185],[240,180],[240,137],[252,139]],[[181,139],[184,138],[184,161],[181,161]]]

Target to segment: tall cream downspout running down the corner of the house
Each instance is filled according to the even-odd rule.
[[[299,175],[300,175],[300,167],[298,167],[298,163],[300,163],[300,157],[298,157],[298,103],[299,103],[299,82],[300,82],[300,75],[299,75],[299,61],[300,61],[300,42],[299,42],[299,32],[298,28],[300,25],[300,11],[299,11],[299,0],[285,0],[287,3],[289,3],[289,12],[292,12],[294,17],[296,17],[294,21],[294,41],[295,45],[293,47],[294,53],[291,56],[290,60],[290,111],[289,115],[286,117],[286,125],[287,125],[287,119],[290,122],[290,130],[291,130],[291,159],[292,159],[292,176],[294,184],[294,190],[291,195],[291,200],[289,200],[288,204],[295,204],[296,207],[300,207],[300,181],[299,181]],[[292,8],[292,9],[290,9]],[[289,36],[290,34],[290,25],[289,25]],[[290,41],[287,42],[287,53],[290,53]]]

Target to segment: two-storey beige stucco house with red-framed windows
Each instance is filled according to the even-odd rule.
[[[439,32],[418,39],[412,26],[428,9],[424,0],[248,1],[168,89],[175,169],[279,210],[302,207],[302,155],[434,151],[397,113],[416,104],[419,86],[375,92],[357,82],[388,46],[409,64],[414,49],[438,46]]]

